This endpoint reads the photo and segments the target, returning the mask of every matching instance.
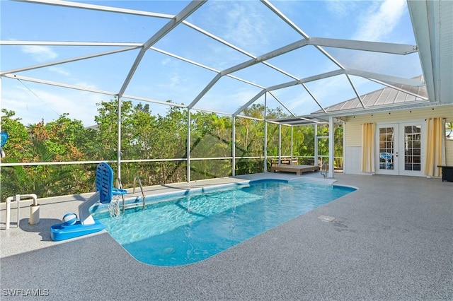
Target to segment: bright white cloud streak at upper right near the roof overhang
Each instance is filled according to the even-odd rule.
[[[359,20],[362,24],[357,29],[353,40],[382,41],[401,20],[406,9],[405,0],[379,1],[379,5],[370,6]]]

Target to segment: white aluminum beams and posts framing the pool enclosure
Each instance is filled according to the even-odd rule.
[[[448,30],[449,23],[452,23],[452,2],[439,0],[439,1],[408,1],[408,8],[411,13],[411,20],[413,23],[413,30],[415,34],[415,39],[418,42],[418,45],[403,45],[403,44],[394,44],[394,43],[385,43],[385,42],[369,42],[369,41],[355,41],[355,40],[342,40],[342,39],[334,39],[334,38],[325,38],[325,37],[311,37],[307,35],[301,28],[299,28],[295,23],[292,22],[285,14],[278,10],[276,6],[274,6],[268,0],[261,0],[261,3],[266,6],[267,8],[272,11],[275,16],[283,20],[287,25],[289,25],[293,30],[295,30],[299,35],[301,35],[301,40],[297,42],[293,42],[289,45],[285,45],[283,47],[279,47],[274,49],[270,52],[261,55],[254,55],[246,52],[245,50],[233,45],[230,42],[223,40],[221,37],[217,37],[216,35],[208,32],[203,28],[199,28],[197,25],[194,25],[187,20],[192,13],[195,13],[203,4],[206,3],[207,0],[204,1],[191,1],[180,13],[176,14],[175,16],[164,14],[164,13],[153,13],[149,11],[137,11],[127,8],[117,8],[111,6],[100,6],[100,5],[93,5],[93,4],[84,4],[78,2],[69,2],[69,1],[59,1],[59,0],[15,0],[21,1],[25,3],[33,3],[33,4],[42,4],[42,5],[50,5],[50,6],[64,6],[70,7],[74,9],[86,9],[91,11],[103,11],[109,13],[122,13],[122,14],[131,14],[135,16],[147,16],[150,18],[163,18],[168,20],[168,22],[161,27],[156,33],[151,35],[146,42],[70,42],[70,41],[0,41],[0,45],[47,45],[47,46],[111,46],[111,47],[120,47],[119,49],[111,50],[108,52],[98,52],[94,54],[88,54],[81,57],[72,57],[69,59],[59,60],[59,61],[51,61],[46,64],[40,64],[35,66],[25,66],[18,69],[10,69],[10,70],[0,70],[1,78],[15,78],[20,79],[21,81],[30,81],[34,83],[40,83],[45,85],[55,85],[62,88],[69,88],[74,90],[82,90],[88,91],[91,93],[100,93],[104,95],[111,95],[117,98],[118,102],[118,122],[117,122],[117,131],[118,131],[118,141],[117,141],[117,175],[121,175],[120,165],[121,165],[121,138],[120,138],[120,131],[121,131],[121,124],[120,124],[120,108],[122,98],[130,98],[134,100],[140,100],[144,102],[151,102],[160,105],[171,105],[177,107],[183,107],[187,110],[188,113],[188,138],[187,138],[187,145],[188,145],[188,168],[187,168],[187,178],[190,181],[190,111],[191,110],[202,110],[207,112],[216,112],[216,111],[209,111],[209,109],[197,107],[197,104],[200,100],[207,94],[207,92],[216,85],[216,83],[224,76],[229,78],[234,78],[237,81],[241,81],[248,85],[253,85],[257,88],[260,88],[260,92],[258,92],[253,98],[248,100],[243,106],[241,106],[235,112],[216,112],[219,114],[224,114],[226,116],[231,116],[231,118],[235,121],[236,117],[245,117],[242,116],[241,113],[247,107],[252,105],[256,100],[263,97],[265,100],[268,96],[277,100],[280,105],[287,111],[290,117],[283,118],[283,119],[271,119],[268,120],[267,117],[264,117],[265,122],[265,133],[266,133],[266,126],[268,122],[275,122],[279,124],[287,124],[287,125],[301,125],[301,124],[319,124],[319,123],[327,123],[330,125],[330,128],[333,129],[333,121],[338,113],[327,112],[326,108],[321,105],[321,102],[317,100],[316,95],[311,93],[309,88],[307,87],[306,83],[319,81],[324,78],[331,78],[333,76],[344,76],[350,88],[354,91],[357,99],[360,101],[362,108],[360,110],[355,110],[355,112],[375,112],[376,110],[401,110],[401,107],[420,107],[420,106],[435,106],[435,105],[445,105],[445,103],[453,102],[453,88],[451,85],[447,87],[447,85],[441,85],[441,82],[447,82],[449,79],[452,79],[452,75],[449,75],[449,67],[452,66],[452,54],[451,51],[449,54],[442,52],[442,49],[450,47],[449,44],[440,44],[440,40],[443,37],[449,37],[446,30]],[[440,28],[440,18],[442,20],[447,20],[442,24],[442,28]],[[192,28],[202,35],[210,37],[217,42],[234,49],[234,51],[239,52],[241,54],[250,57],[247,61],[243,61],[240,64],[236,64],[235,66],[229,66],[223,70],[217,70],[210,66],[205,66],[204,64],[200,64],[197,61],[192,61],[185,57],[181,57],[177,54],[172,54],[171,52],[167,52],[163,49],[159,49],[154,47],[154,44],[161,40],[162,37],[167,35],[174,30],[178,26],[187,26],[188,28]],[[447,29],[446,29],[447,28]],[[450,30],[451,31],[451,30]],[[450,33],[451,35],[451,33]],[[444,39],[445,40],[445,39]],[[448,42],[448,41],[447,41]],[[451,42],[451,40],[450,40]],[[292,52],[295,49],[300,49],[306,46],[313,46],[315,49],[321,53],[324,57],[330,60],[333,64],[338,66],[338,69],[334,71],[329,71],[326,73],[316,74],[315,76],[309,76],[306,78],[298,78],[297,76],[292,75],[291,73],[278,68],[277,66],[273,66],[270,64],[268,60],[273,59],[275,57],[279,57],[284,55],[288,52]],[[389,76],[388,74],[382,73],[373,73],[365,70],[357,70],[357,69],[348,69],[347,67],[343,66],[340,61],[337,61],[333,58],[333,56],[324,48],[324,47],[333,47],[333,48],[341,48],[341,49],[354,49],[366,52],[379,52],[379,53],[386,53],[386,54],[397,54],[397,55],[407,55],[418,53],[420,56],[420,64],[423,67],[423,76],[425,81],[418,81],[413,78],[399,78],[397,76]],[[443,47],[443,48],[442,48]],[[132,50],[139,49],[139,53],[134,60],[134,63],[130,67],[130,71],[127,74],[126,78],[124,79],[122,85],[118,88],[118,90],[113,91],[105,91],[105,90],[98,90],[94,88],[87,88],[84,86],[79,85],[69,85],[67,83],[59,83],[55,81],[45,81],[40,78],[31,78],[29,76],[22,76],[20,73],[23,71],[29,71],[33,69],[40,69],[43,67],[48,66],[57,66],[60,64],[67,64],[72,61],[81,61],[85,59],[91,59],[94,57],[103,57],[108,56],[110,54],[120,53],[120,52],[130,52]],[[449,48],[451,49],[451,47]],[[162,100],[154,100],[152,98],[143,98],[137,95],[125,95],[125,91],[127,90],[128,85],[130,84],[131,79],[134,77],[134,73],[137,70],[144,54],[148,51],[159,52],[161,54],[167,55],[169,57],[173,57],[175,59],[179,59],[181,61],[185,61],[186,63],[193,64],[194,66],[200,67],[202,69],[207,69],[216,73],[216,75],[212,78],[210,83],[208,83],[205,88],[203,88],[200,93],[190,102],[189,105],[176,105],[173,103],[164,102]],[[447,64],[443,64],[443,61],[447,61]],[[234,76],[232,73],[236,71],[240,71],[243,69],[247,69],[248,67],[255,66],[256,64],[264,64],[275,71],[278,71],[285,76],[292,78],[292,81],[287,81],[285,83],[280,83],[273,86],[264,87],[258,85],[256,83],[252,83],[251,81],[247,81],[246,79],[239,78],[239,76]],[[452,72],[453,74],[453,72]],[[425,98],[423,95],[415,95],[415,97],[420,98],[419,101],[408,103],[405,105],[389,105],[387,107],[381,108],[368,108],[362,102],[361,96],[357,91],[354,83],[350,76],[358,76],[360,78],[365,78],[368,81],[375,81],[382,85],[385,85],[389,88],[395,88],[394,84],[403,84],[403,85],[412,85],[412,86],[422,86],[425,85],[428,90],[428,98]],[[0,92],[1,92],[1,78],[0,78]],[[442,81],[441,81],[442,78]],[[445,78],[445,79],[444,79]],[[452,81],[450,81],[451,83]],[[285,105],[284,100],[278,99],[274,94],[273,91],[285,89],[292,87],[294,85],[301,85],[304,90],[311,96],[312,100],[316,102],[316,105],[322,111],[322,113],[317,114],[309,114],[304,116],[297,116],[289,108]],[[413,94],[411,91],[403,90],[404,93]],[[0,93],[0,108],[1,108],[1,93]],[[343,112],[345,113],[345,112]],[[233,122],[235,124],[235,122]],[[0,128],[1,129],[1,128]],[[234,129],[234,126],[233,126]],[[265,135],[266,136],[266,135]],[[329,136],[333,136],[333,131],[329,133]],[[232,149],[232,173],[234,175],[235,172],[235,162],[236,162],[236,154],[234,148],[234,139],[235,139],[235,131],[233,130],[232,134],[233,138],[233,149]],[[280,137],[281,138],[281,137]],[[331,139],[331,143],[333,143],[333,139]],[[280,142],[279,142],[280,143]],[[331,145],[333,147],[333,145]],[[264,158],[266,158],[266,146],[263,150]],[[333,157],[333,152],[331,152],[331,156]],[[1,163],[0,163],[1,164]],[[333,177],[333,165],[331,166],[332,170],[329,170],[329,176]]]

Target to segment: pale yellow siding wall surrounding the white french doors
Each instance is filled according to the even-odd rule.
[[[444,117],[446,118],[446,122],[453,122],[453,105],[373,114],[357,114],[355,116],[342,118],[346,122],[345,173],[362,174],[362,172],[360,172],[360,161],[362,158],[362,124],[366,122],[411,122],[412,120],[431,117]],[[447,165],[453,165],[453,140],[445,141],[445,156]]]

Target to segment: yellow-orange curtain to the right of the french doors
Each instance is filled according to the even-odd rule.
[[[426,119],[426,156],[423,172],[430,177],[440,177],[437,165],[445,165],[445,122],[442,117]]]

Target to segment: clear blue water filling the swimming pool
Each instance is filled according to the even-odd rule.
[[[147,199],[147,206],[110,218],[97,208],[94,218],[135,259],[158,266],[202,261],[296,218],[354,188],[260,180],[204,193]]]

